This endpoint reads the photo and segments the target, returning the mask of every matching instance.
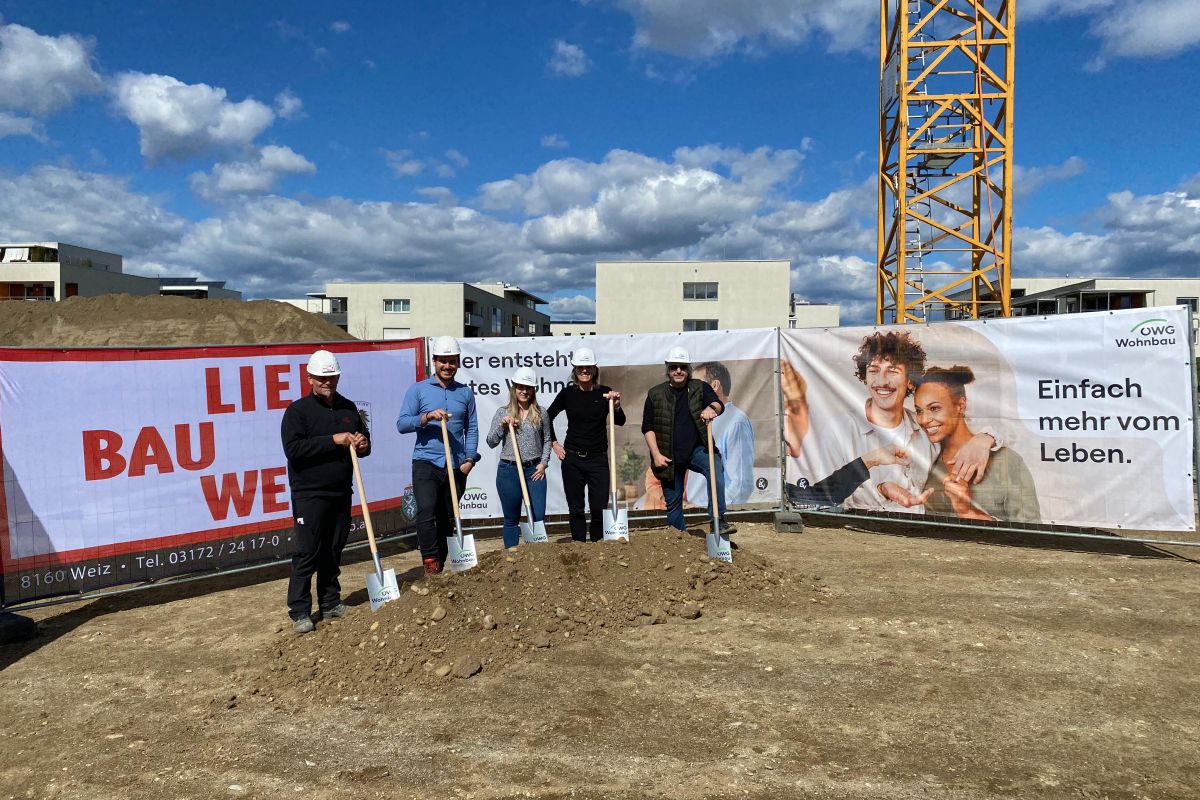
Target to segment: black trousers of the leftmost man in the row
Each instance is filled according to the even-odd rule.
[[[317,608],[329,610],[342,602],[342,549],[350,535],[350,495],[292,498],[296,552],[288,581],[288,615],[312,613],[312,576],[317,575]]]

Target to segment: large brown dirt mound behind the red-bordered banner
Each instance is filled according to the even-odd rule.
[[[340,342],[349,333],[274,300],[112,294],[0,306],[0,347],[170,347]]]

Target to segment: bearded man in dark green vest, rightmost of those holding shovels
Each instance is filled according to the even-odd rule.
[[[650,389],[642,409],[642,434],[650,449],[650,469],[662,483],[667,505],[667,524],[685,530],[683,521],[684,476],[688,470],[708,474],[708,425],[725,411],[725,404],[713,387],[691,377],[691,357],[686,348],[673,347],[667,353],[667,379]],[[716,511],[720,531],[737,531],[725,522],[725,464],[715,453]],[[712,493],[708,515],[713,516]]]

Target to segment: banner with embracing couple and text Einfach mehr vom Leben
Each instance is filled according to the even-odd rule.
[[[1184,307],[781,336],[794,504],[1195,530]]]

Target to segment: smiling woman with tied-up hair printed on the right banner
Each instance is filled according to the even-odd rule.
[[[1038,492],[1025,462],[1009,447],[991,453],[983,480],[972,485],[954,475],[947,463],[974,435],[967,427],[966,385],[974,380],[971,367],[930,367],[920,377],[913,402],[917,423],[942,453],[929,471],[925,501],[929,513],[954,515],[964,519],[1038,522]]]

